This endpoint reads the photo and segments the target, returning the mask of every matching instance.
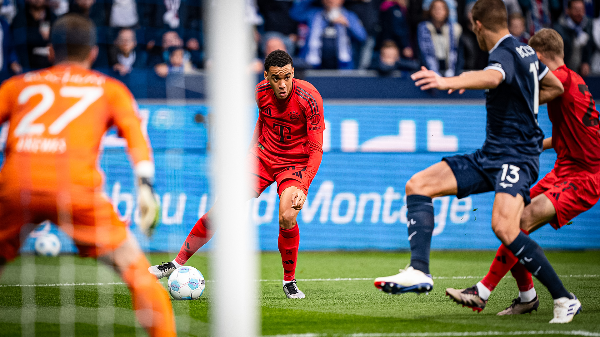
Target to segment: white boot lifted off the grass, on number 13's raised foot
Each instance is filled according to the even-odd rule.
[[[408,267],[407,269],[400,269],[400,273],[396,275],[376,278],[374,285],[380,291],[385,291],[389,294],[402,294],[408,291],[417,294],[428,294],[433,290],[433,278],[431,274]]]

